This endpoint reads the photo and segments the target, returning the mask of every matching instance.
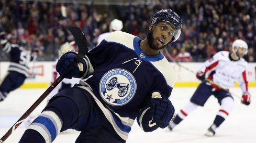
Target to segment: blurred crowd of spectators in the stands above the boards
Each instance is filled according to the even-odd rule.
[[[26,40],[31,48],[40,48],[38,60],[58,58],[58,48],[72,41],[70,25],[79,26],[90,47],[97,45],[98,35],[108,32],[110,21],[124,23],[122,31],[141,38],[154,12],[171,8],[181,15],[182,34],[163,53],[177,61],[205,61],[220,50],[230,50],[237,38],[248,43],[249,62],[256,61],[256,1],[242,0],[175,0],[147,5],[85,5],[73,3],[0,2],[0,28],[12,43]],[[168,56],[167,54],[168,53]],[[1,61],[7,56],[1,52]]]

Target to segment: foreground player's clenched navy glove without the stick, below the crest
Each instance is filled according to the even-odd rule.
[[[172,102],[165,98],[152,98],[152,119],[161,128],[170,124],[175,115],[175,109]]]

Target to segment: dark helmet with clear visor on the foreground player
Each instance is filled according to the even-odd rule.
[[[159,21],[170,23],[175,27],[175,31],[172,33],[173,40],[171,42],[175,42],[181,35],[181,28],[182,28],[182,21],[181,17],[176,14],[171,9],[161,9],[158,12],[156,12],[151,20],[151,24],[153,26],[157,25]]]

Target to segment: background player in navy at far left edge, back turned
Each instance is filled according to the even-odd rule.
[[[0,85],[0,101],[3,101],[9,92],[20,87],[29,76],[28,64],[35,60],[38,51],[27,50],[27,42],[21,44],[11,44],[5,38],[5,32],[0,33],[2,50],[10,54],[10,65],[5,79]]]

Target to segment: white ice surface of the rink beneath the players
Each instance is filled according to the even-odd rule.
[[[0,137],[27,111],[39,96],[46,89],[17,89],[10,93],[8,98],[0,102]],[[175,87],[172,92],[171,101],[176,109],[180,110],[190,99],[195,88]],[[235,108],[229,114],[226,121],[217,129],[214,137],[206,137],[204,133],[212,124],[219,105],[217,99],[210,97],[205,107],[199,107],[187,118],[177,125],[172,132],[166,129],[158,129],[152,133],[143,133],[137,122],[132,126],[127,143],[170,143],[170,142],[207,142],[207,143],[249,143],[256,142],[256,88],[249,88],[252,94],[252,103],[245,106],[240,99],[234,96]],[[232,88],[231,93],[241,96],[240,88]],[[46,105],[43,101],[32,115],[37,114]],[[12,135],[6,139],[6,143],[18,142],[25,131],[24,124],[21,124]],[[79,132],[70,131],[57,136],[53,141],[74,142]]]

